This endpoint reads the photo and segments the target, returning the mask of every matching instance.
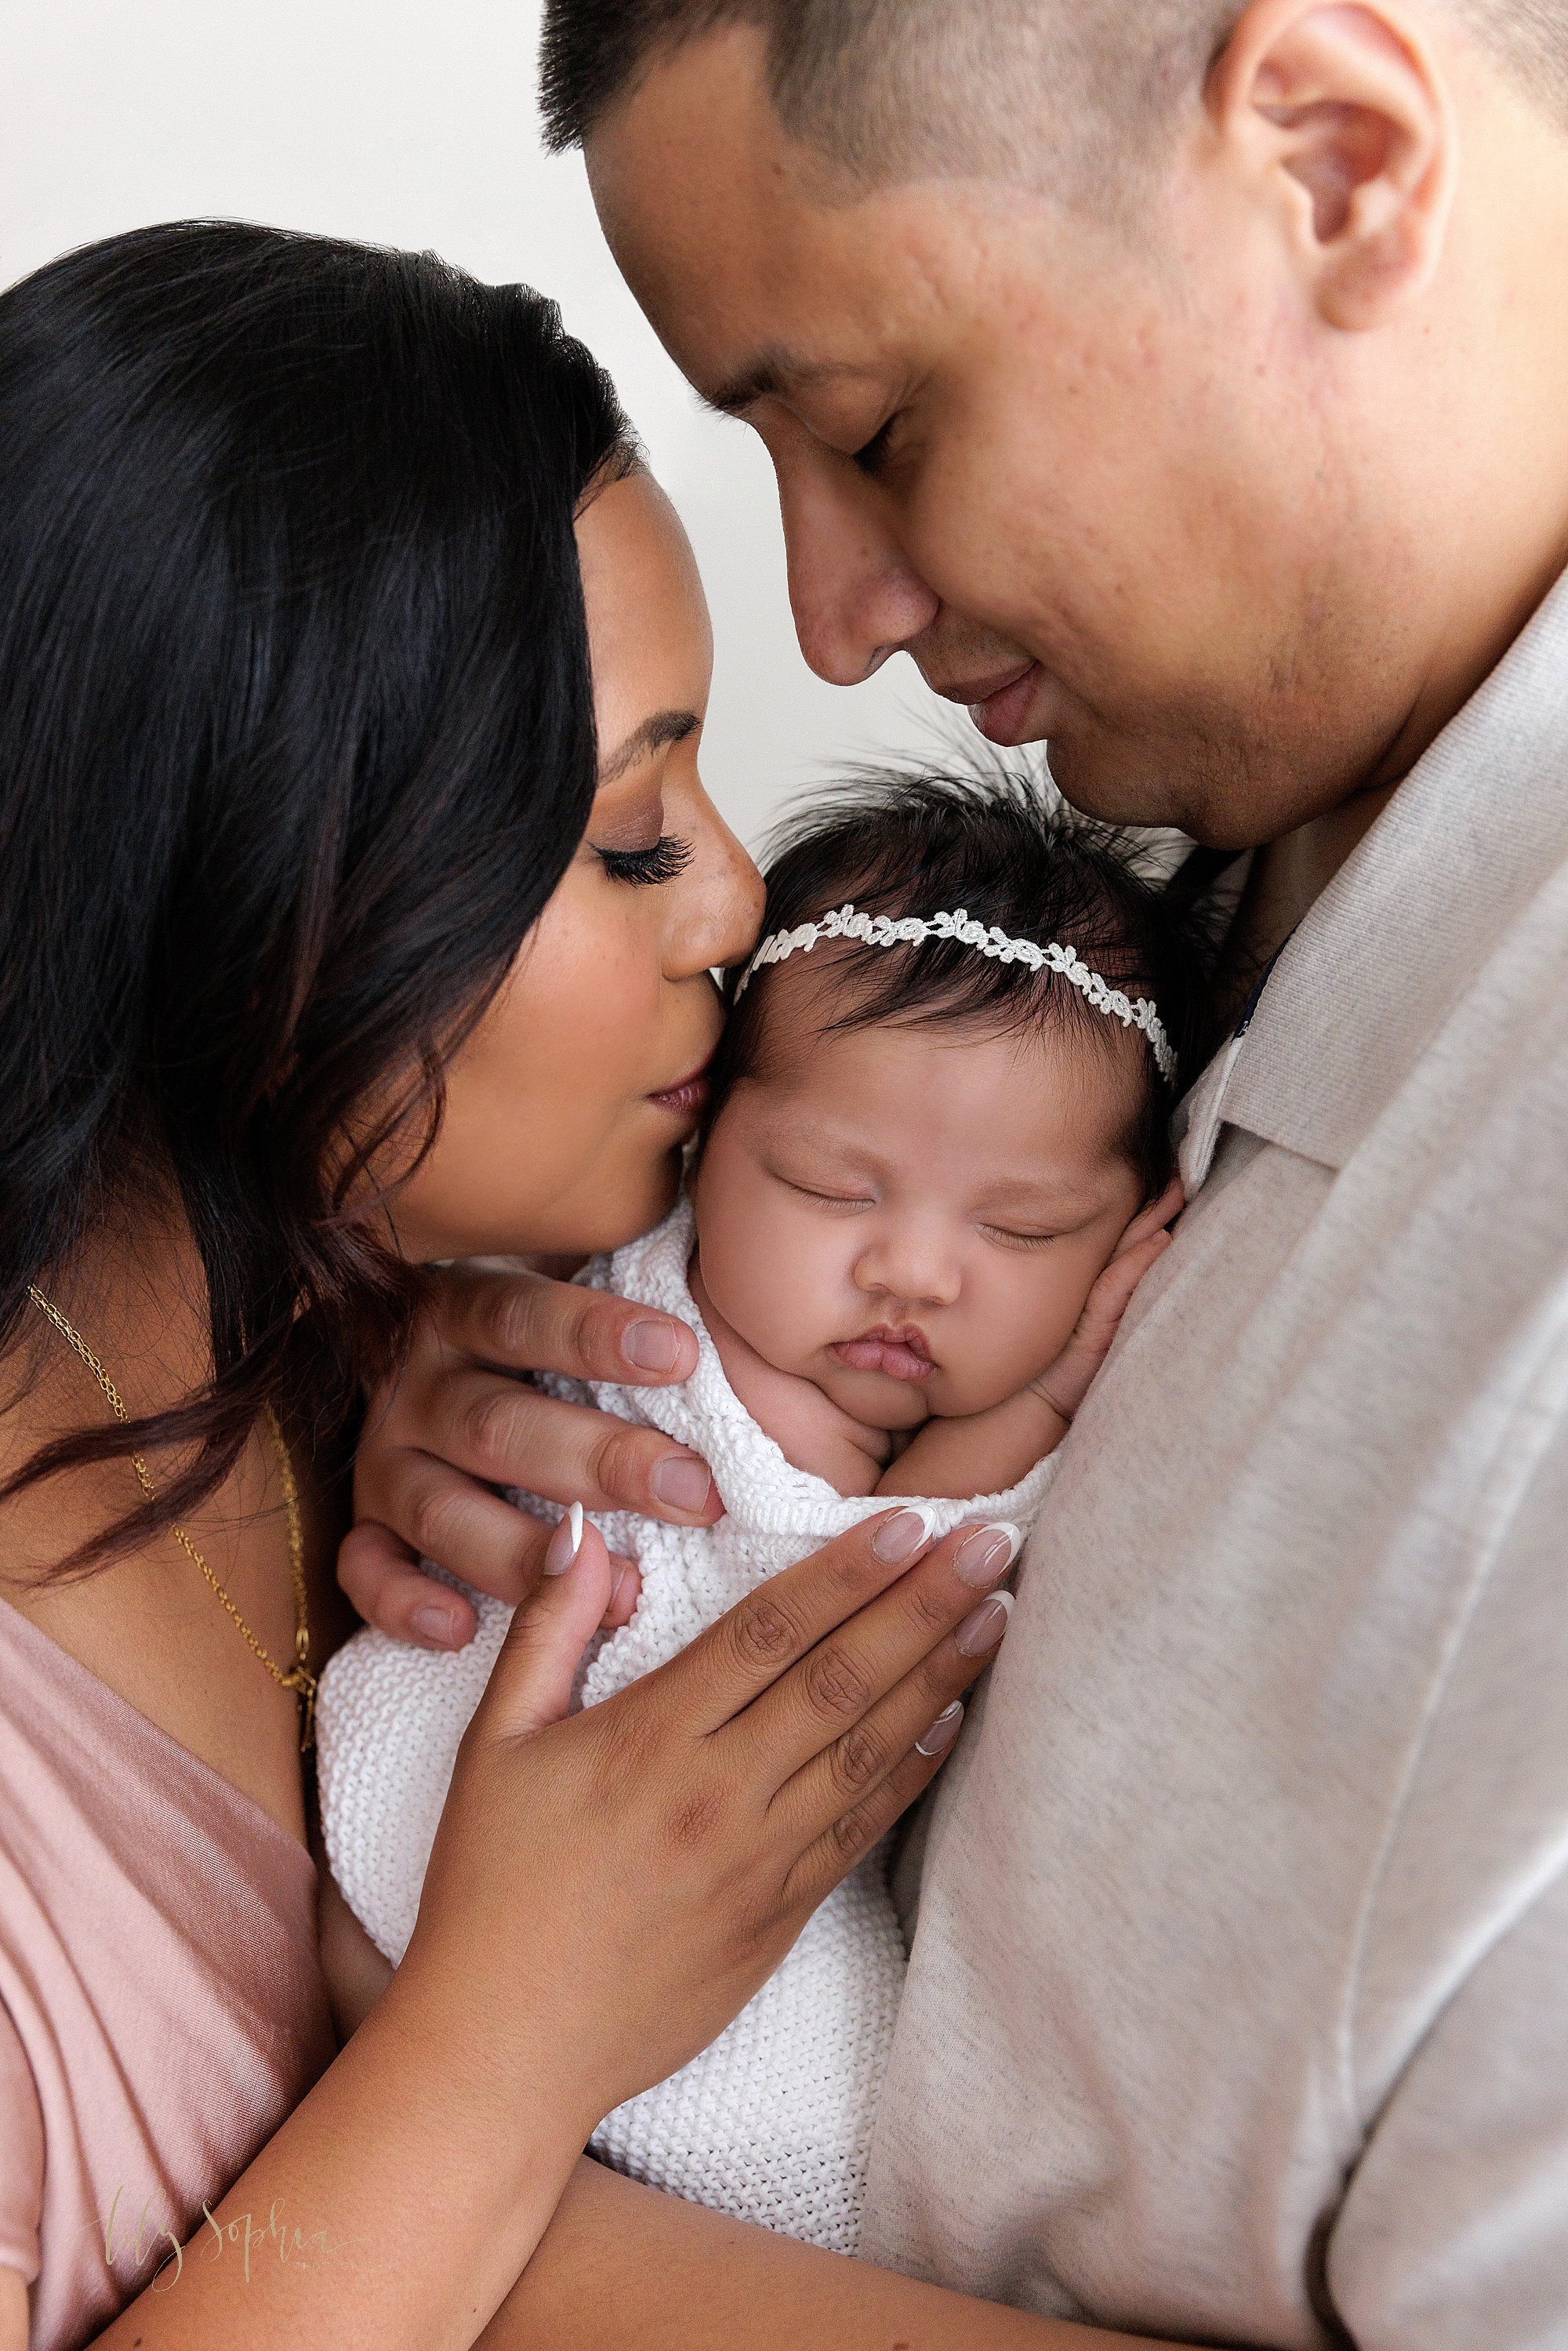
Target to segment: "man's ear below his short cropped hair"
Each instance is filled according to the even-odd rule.
[[[1399,0],[1253,0],[1208,120],[1279,205],[1331,327],[1380,327],[1432,282],[1455,186],[1443,71]]]

